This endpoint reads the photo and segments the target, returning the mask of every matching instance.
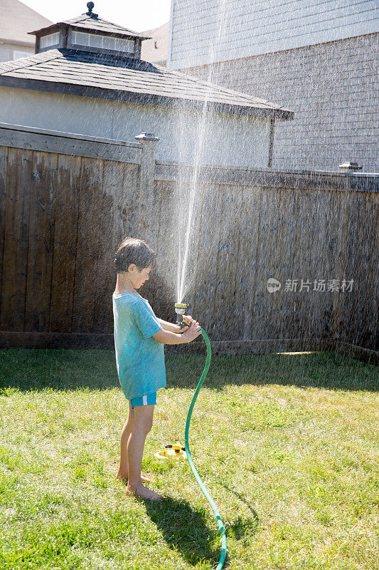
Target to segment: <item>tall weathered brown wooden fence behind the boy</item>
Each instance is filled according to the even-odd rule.
[[[144,294],[172,320],[193,167],[155,163],[155,143],[0,125],[0,346],[112,346],[112,257],[126,235],[156,249]],[[378,178],[203,167],[198,195],[185,300],[216,350],[378,361]]]

